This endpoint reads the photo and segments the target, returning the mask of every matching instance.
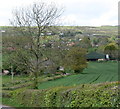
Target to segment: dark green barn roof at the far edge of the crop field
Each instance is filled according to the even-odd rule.
[[[87,59],[105,59],[105,54],[91,52],[86,55]]]

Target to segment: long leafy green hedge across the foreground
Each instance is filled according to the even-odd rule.
[[[23,107],[118,107],[118,83],[56,87],[47,90],[19,89],[11,100]]]

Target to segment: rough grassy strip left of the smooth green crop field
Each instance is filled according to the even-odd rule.
[[[38,78],[39,82],[45,82],[45,81],[50,81],[50,80],[55,80],[58,78],[62,78],[63,76],[61,75],[54,75],[54,76],[48,76],[48,75],[43,75]],[[22,87],[26,88],[31,88],[33,86],[33,80],[32,78],[28,76],[20,76],[16,75],[14,76],[14,79],[12,81],[11,76],[9,75],[3,75],[2,76],[2,90],[16,90],[20,89]]]

